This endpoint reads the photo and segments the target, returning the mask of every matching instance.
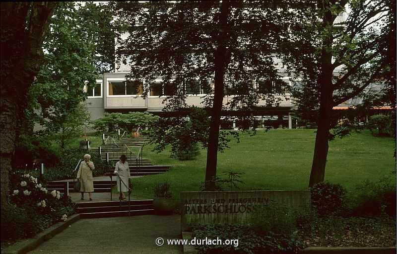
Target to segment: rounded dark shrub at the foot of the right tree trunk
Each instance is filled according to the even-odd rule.
[[[340,184],[319,182],[310,188],[312,206],[320,217],[340,215],[345,211],[346,189]]]

